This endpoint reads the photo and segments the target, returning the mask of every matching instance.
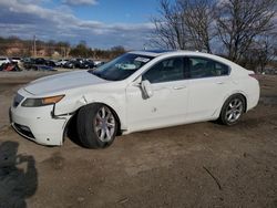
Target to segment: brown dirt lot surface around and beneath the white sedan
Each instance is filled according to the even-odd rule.
[[[45,73],[0,73],[0,207],[277,207],[277,76],[233,127],[212,122],[44,147],[11,129],[13,93]]]

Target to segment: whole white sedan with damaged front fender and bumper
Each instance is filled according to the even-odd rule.
[[[188,51],[135,51],[98,67],[47,76],[20,89],[11,125],[43,145],[62,145],[75,119],[88,148],[116,135],[187,123],[234,125],[259,100],[253,71],[216,55]]]

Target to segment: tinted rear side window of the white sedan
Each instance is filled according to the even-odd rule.
[[[229,67],[225,64],[204,58],[189,58],[191,77],[211,77],[228,75]]]

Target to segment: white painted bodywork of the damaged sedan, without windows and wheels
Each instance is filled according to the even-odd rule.
[[[193,122],[216,119],[224,102],[233,94],[246,97],[247,110],[255,107],[259,100],[259,84],[249,76],[252,71],[223,58],[189,51],[175,52],[130,52],[153,56],[140,70],[122,81],[105,81],[86,71],[69,72],[47,76],[31,82],[19,90],[24,98],[18,106],[11,106],[11,124],[21,135],[43,145],[62,145],[63,133],[69,119],[82,106],[103,103],[117,115],[123,134],[161,128]],[[152,84],[153,96],[145,98],[138,86],[141,75],[155,63],[174,56],[202,56],[227,64],[229,75],[187,79]],[[55,105],[23,107],[28,97],[65,95]],[[30,137],[17,125],[27,126]]]

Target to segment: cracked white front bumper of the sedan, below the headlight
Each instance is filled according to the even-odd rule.
[[[38,144],[60,146],[63,143],[63,132],[70,116],[53,117],[52,111],[53,105],[41,107],[11,106],[11,126],[21,136]]]

